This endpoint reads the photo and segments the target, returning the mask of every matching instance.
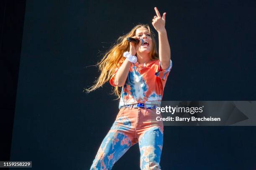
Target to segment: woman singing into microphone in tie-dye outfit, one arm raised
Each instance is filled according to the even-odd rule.
[[[95,85],[105,82],[115,87],[120,98],[119,112],[113,126],[102,141],[90,170],[110,170],[114,163],[134,144],[139,143],[141,170],[161,170],[164,126],[157,121],[156,107],[161,107],[164,86],[172,68],[170,46],[165,29],[165,16],[156,16],[152,25],[158,32],[159,54],[148,25],[137,25],[120,37],[98,63],[101,70]],[[127,37],[140,40],[128,42]],[[142,44],[142,40],[144,43]],[[122,87],[121,93],[118,87]]]

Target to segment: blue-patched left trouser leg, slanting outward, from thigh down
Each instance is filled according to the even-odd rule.
[[[119,130],[110,130],[102,141],[90,170],[111,170],[131,147],[131,140]]]

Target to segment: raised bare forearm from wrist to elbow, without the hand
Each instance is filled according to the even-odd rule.
[[[159,38],[159,60],[163,70],[169,67],[171,59],[171,49],[167,37],[166,29],[158,31]]]

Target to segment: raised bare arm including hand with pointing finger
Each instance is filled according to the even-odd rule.
[[[154,16],[154,19],[152,20],[152,25],[158,32],[158,38],[159,38],[159,60],[160,64],[163,70],[167,69],[170,65],[171,60],[171,49],[167,37],[167,32],[165,29],[165,15],[163,14],[163,17],[161,17],[158,9],[155,7],[156,16]]]

